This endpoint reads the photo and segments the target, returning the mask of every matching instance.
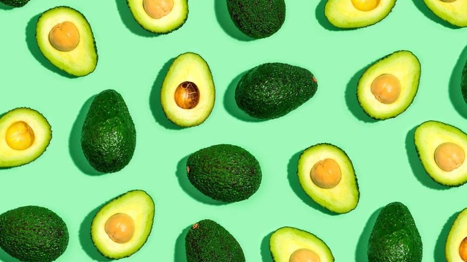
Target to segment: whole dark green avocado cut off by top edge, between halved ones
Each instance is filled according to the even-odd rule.
[[[284,0],[227,0],[227,9],[235,26],[256,39],[276,33],[286,19]]]

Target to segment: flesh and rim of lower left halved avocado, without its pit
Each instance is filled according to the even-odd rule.
[[[134,222],[134,234],[126,243],[110,239],[106,224],[116,214],[126,214]],[[151,233],[154,201],[143,190],[132,190],[115,197],[103,206],[92,219],[91,239],[99,252],[110,259],[131,256],[140,250]]]

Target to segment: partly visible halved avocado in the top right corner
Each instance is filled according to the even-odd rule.
[[[441,19],[458,27],[467,26],[467,2],[462,0],[423,0]]]

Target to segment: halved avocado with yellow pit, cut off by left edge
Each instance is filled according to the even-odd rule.
[[[21,107],[0,118],[0,137],[0,167],[13,167],[42,155],[52,139],[52,130],[39,112]]]

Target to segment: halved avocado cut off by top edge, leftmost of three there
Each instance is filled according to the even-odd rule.
[[[152,33],[171,33],[188,17],[187,0],[126,0],[135,20]]]

